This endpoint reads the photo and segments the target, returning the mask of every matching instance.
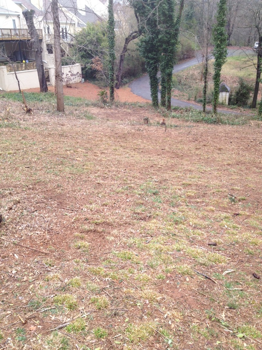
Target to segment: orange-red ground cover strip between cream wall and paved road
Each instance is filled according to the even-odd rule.
[[[54,86],[48,87],[49,91],[54,91]],[[67,96],[83,97],[88,100],[97,100],[97,94],[102,89],[89,82],[72,84],[72,87],[64,86],[64,94]],[[39,88],[24,90],[27,92],[39,92]],[[108,92],[109,94],[109,92]],[[115,90],[115,99],[120,102],[149,102],[149,100],[139,97],[131,92],[130,87],[124,86]]]

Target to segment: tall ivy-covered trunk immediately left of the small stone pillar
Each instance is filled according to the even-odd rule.
[[[227,33],[226,33],[226,0],[220,0],[218,3],[216,20],[217,23],[213,28],[214,49],[214,96],[213,96],[213,113],[217,113],[217,104],[219,99],[220,76],[223,64],[227,56]]]

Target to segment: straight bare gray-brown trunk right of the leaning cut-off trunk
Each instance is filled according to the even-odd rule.
[[[64,112],[64,89],[63,89],[63,74],[62,74],[62,56],[60,43],[60,23],[58,15],[58,1],[52,0],[51,9],[53,14],[54,24],[54,62],[56,65],[56,104],[57,111]]]

